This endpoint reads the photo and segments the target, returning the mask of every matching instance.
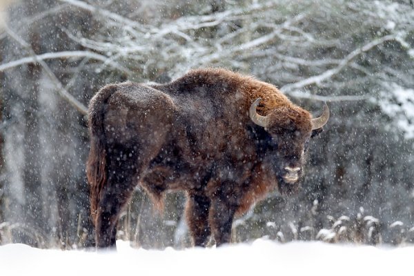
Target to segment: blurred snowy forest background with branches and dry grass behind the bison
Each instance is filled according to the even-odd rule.
[[[9,4],[9,6],[6,6]],[[106,83],[220,66],[331,119],[302,191],[273,193],[233,242],[414,242],[414,6],[410,0],[0,1],[0,244],[93,246],[85,112]],[[158,215],[137,188],[119,239],[190,246],[185,197]]]

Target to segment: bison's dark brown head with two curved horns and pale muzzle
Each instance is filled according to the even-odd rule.
[[[250,119],[264,127],[268,133],[264,146],[264,163],[276,172],[281,193],[295,193],[303,174],[304,152],[309,139],[322,130],[328,122],[329,109],[326,103],[320,117],[297,106],[279,106],[268,115],[257,114],[260,98],[250,106]]]

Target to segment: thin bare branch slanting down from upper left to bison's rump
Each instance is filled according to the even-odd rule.
[[[12,37],[21,46],[23,46],[24,48],[26,48],[26,50],[28,50],[28,52],[30,53],[30,55],[32,55],[32,58],[34,59],[34,61],[36,61],[36,63],[39,63],[43,67],[43,70],[45,70],[47,75],[52,80],[53,85],[57,88],[57,92],[59,93],[59,95],[65,101],[68,101],[68,103],[70,103],[71,106],[76,108],[76,110],[78,110],[83,116],[87,117],[88,116],[88,108],[86,108],[86,106],[84,106],[83,103],[81,103],[80,101],[75,99],[75,97],[73,97],[72,95],[70,95],[70,93],[68,91],[66,91],[66,89],[63,87],[62,83],[59,81],[59,79],[57,79],[55,74],[49,68],[48,64],[46,64],[46,62],[44,62],[42,59],[37,58],[36,52],[34,52],[32,47],[30,47],[30,45],[26,41],[21,39],[21,37],[19,37],[15,32],[13,32],[10,28],[8,28],[7,25],[4,26],[4,29],[10,35],[10,37]]]

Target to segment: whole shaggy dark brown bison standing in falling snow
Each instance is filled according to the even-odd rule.
[[[87,172],[98,248],[115,246],[119,213],[135,186],[161,206],[185,190],[195,246],[230,242],[233,217],[270,190],[295,193],[308,139],[328,121],[275,86],[224,69],[171,83],[111,84],[90,101]]]

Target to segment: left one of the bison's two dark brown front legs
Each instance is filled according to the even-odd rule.
[[[208,226],[208,211],[210,210],[210,199],[205,195],[188,193],[186,205],[186,218],[188,228],[195,246],[205,247],[210,236]]]

